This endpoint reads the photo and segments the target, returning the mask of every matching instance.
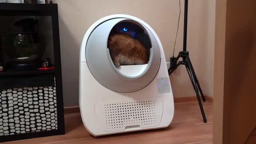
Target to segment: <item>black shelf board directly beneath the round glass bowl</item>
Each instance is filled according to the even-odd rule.
[[[39,75],[39,74],[55,74],[55,70],[6,71],[6,72],[1,72],[0,77],[4,77],[4,76],[22,76],[22,75]]]

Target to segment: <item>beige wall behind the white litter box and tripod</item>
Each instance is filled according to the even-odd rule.
[[[129,14],[147,22],[158,34],[166,60],[172,56],[179,14],[178,0],[55,0],[58,3],[64,106],[78,105],[79,51],[91,24],[110,14]],[[175,56],[182,50],[183,7]],[[189,0],[188,50],[207,96],[213,96],[215,0]],[[170,78],[174,97],[195,96],[186,69]]]

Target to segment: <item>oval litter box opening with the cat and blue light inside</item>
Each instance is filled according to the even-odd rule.
[[[132,20],[118,22],[112,28],[107,51],[112,68],[126,78],[142,76],[152,63],[153,50],[148,32]]]

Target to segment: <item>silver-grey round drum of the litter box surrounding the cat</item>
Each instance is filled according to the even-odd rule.
[[[140,41],[146,50],[149,49],[145,64],[121,65],[118,68],[114,65],[108,39],[117,32],[126,32],[130,38]],[[154,34],[143,23],[127,18],[113,18],[98,24],[86,40],[85,56],[90,73],[102,86],[125,93],[141,90],[150,84],[158,73],[161,60]]]

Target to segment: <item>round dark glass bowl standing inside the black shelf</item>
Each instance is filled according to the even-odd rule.
[[[38,20],[24,18],[14,25],[20,27],[22,32],[10,32],[4,38],[4,50],[11,58],[6,64],[6,69],[35,70],[46,50],[44,36],[35,28]]]

